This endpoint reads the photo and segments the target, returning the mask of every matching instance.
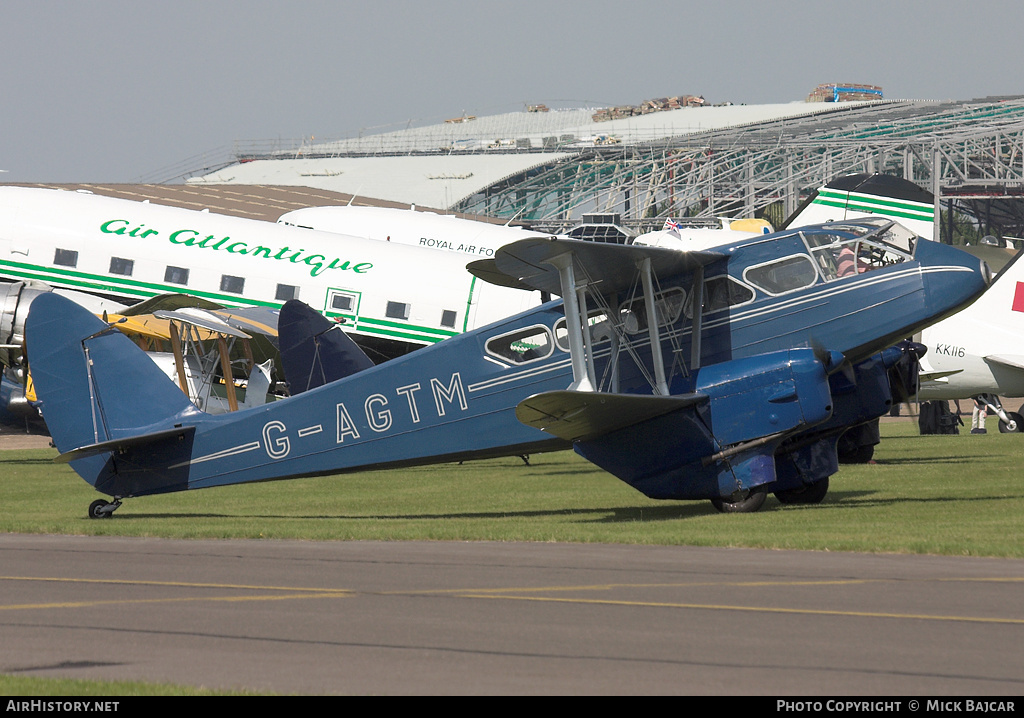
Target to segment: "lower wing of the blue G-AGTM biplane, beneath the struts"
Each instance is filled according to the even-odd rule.
[[[645,396],[591,391],[547,391],[524,398],[516,418],[568,441],[593,438],[708,400],[706,394]]]

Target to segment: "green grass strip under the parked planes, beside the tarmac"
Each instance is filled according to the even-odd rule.
[[[818,506],[753,514],[652,501],[570,452],[98,498],[53,450],[0,453],[3,533],[166,538],[559,541],[1024,557],[1024,436],[918,435],[884,423],[876,464],[843,466]]]

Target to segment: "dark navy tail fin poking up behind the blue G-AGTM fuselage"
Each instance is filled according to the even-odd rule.
[[[374,366],[341,327],[295,299],[281,307],[278,341],[293,396]]]

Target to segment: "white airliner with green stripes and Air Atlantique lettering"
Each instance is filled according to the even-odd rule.
[[[0,279],[124,303],[165,293],[226,307],[301,299],[343,320],[377,361],[540,303],[539,292],[478,281],[467,261],[464,252],[86,192],[0,187]],[[0,310],[16,305],[12,291],[0,286]]]

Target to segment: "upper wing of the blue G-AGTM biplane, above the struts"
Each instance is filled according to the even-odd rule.
[[[645,259],[651,271],[663,278],[691,272],[723,259],[721,252],[680,252],[659,247],[603,244],[581,240],[535,239],[505,245],[495,254],[495,267],[519,283],[562,296],[558,266],[571,256],[577,267],[586,270],[588,283],[602,294],[634,286],[637,267]],[[487,279],[487,278],[482,278]]]

